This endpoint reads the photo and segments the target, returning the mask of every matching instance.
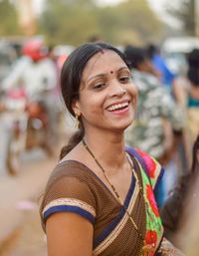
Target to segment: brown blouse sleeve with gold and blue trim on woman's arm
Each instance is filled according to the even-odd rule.
[[[67,170],[57,177],[55,173],[49,179],[40,209],[44,230],[47,218],[55,212],[75,212],[94,224],[96,201],[87,182],[69,175]]]

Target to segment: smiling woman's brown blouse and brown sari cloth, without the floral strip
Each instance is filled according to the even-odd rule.
[[[142,180],[136,160],[134,166]],[[144,236],[145,206],[133,175],[124,205]],[[58,211],[76,212],[93,223],[94,255],[139,255],[143,241],[125,210],[100,178],[79,161],[63,161],[53,170],[41,205],[44,230],[48,216]]]

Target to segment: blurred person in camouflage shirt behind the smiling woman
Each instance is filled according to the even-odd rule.
[[[183,116],[168,90],[151,74],[151,63],[142,48],[126,46],[124,54],[138,91],[135,121],[125,131],[125,142],[155,157],[165,167],[161,207],[177,178],[174,133],[181,132]]]

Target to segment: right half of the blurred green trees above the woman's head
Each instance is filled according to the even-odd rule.
[[[128,0],[101,9],[100,24],[104,38],[109,35],[108,40],[115,44],[144,44],[160,37],[163,28],[145,0]]]

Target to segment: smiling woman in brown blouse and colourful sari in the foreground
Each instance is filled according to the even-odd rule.
[[[154,255],[163,228],[152,188],[162,169],[147,154],[124,149],[137,101],[125,58],[87,43],[65,62],[61,89],[80,131],[62,150],[42,202],[49,255]],[[147,161],[148,173],[137,158]]]

